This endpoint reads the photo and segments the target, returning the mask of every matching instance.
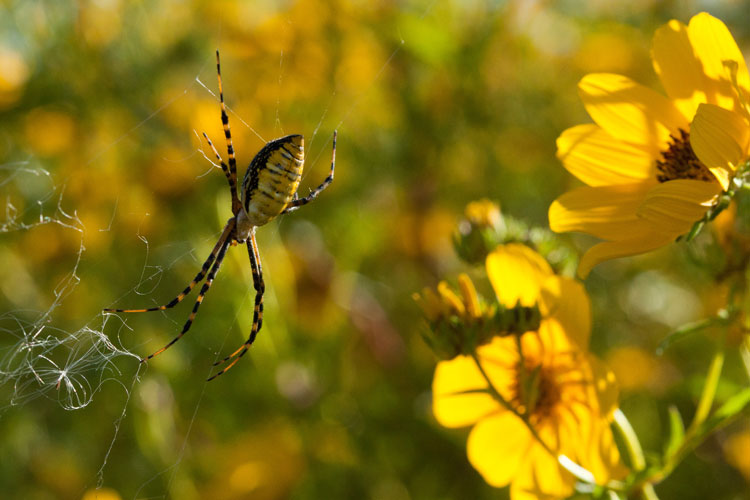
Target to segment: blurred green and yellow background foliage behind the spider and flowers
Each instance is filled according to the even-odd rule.
[[[467,202],[498,200],[546,225],[549,203],[573,183],[555,139],[587,120],[577,81],[609,71],[653,83],[654,28],[701,5],[0,2],[6,360],[23,322],[61,337],[101,329],[103,307],[162,303],[194,276],[230,215],[224,176],[198,138],[205,130],[223,150],[216,48],[240,175],[263,140],[303,133],[306,192],[339,133],[334,184],[258,231],[266,315],[249,355],[204,383],[252,319],[247,255],[230,249],[189,335],[147,367],[102,361],[84,409],[63,410],[54,389],[13,405],[14,380],[5,383],[2,496],[82,498],[102,485],[100,498],[502,498],[468,464],[465,432],[431,416],[436,360],[411,294],[472,272],[451,246]],[[750,9],[710,5],[746,46]],[[654,350],[716,300],[682,264],[644,271],[663,258],[608,263],[588,281],[594,350],[620,376],[622,407],[651,449],[665,401],[693,411],[700,384],[683,377],[703,373],[709,356],[700,337],[658,359]],[[56,301],[73,270],[79,281]],[[678,300],[686,305],[665,314]],[[104,333],[145,355],[189,307],[110,317]],[[746,492],[741,425],[745,434],[722,431],[657,489]]]

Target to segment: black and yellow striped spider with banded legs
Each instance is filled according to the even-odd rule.
[[[193,281],[167,304],[147,309],[104,309],[105,312],[149,312],[163,311],[179,304],[190,291],[206,278],[203,283],[195,305],[190,313],[182,331],[172,339],[167,345],[141,359],[144,363],[154,356],[157,356],[171,347],[175,342],[180,340],[193,324],[195,316],[198,314],[198,308],[203,302],[203,297],[211,288],[211,284],[219,271],[227,248],[235,246],[238,243],[247,244],[247,252],[250,256],[250,267],[253,272],[253,287],[255,288],[255,307],[253,309],[253,326],[250,330],[250,336],[237,350],[224,359],[214,363],[214,366],[220,366],[228,363],[220,371],[209,377],[209,381],[222,375],[232,368],[242,356],[245,355],[250,345],[255,341],[261,326],[263,325],[263,292],[265,284],[263,283],[263,271],[260,264],[260,254],[258,244],[255,241],[255,229],[267,224],[279,215],[297,210],[303,205],[307,205],[314,200],[325,188],[333,182],[333,171],[336,166],[336,131],[333,132],[333,148],[331,152],[331,172],[328,177],[312,190],[304,198],[297,194],[302,170],[305,162],[304,138],[301,135],[287,135],[267,143],[258,154],[245,172],[245,178],[242,181],[242,198],[237,196],[237,162],[234,156],[234,147],[232,146],[232,134],[229,130],[229,117],[224,104],[224,91],[221,85],[221,63],[219,61],[219,51],[216,51],[216,72],[219,80],[219,99],[221,101],[221,122],[224,125],[224,136],[227,141],[227,155],[229,157],[229,166],[219,155],[211,139],[205,132],[203,137],[211,147],[216,159],[221,163],[221,169],[226,175],[229,182],[229,190],[232,194],[232,217],[227,221],[224,230],[219,236],[219,240],[214,245],[211,254],[203,263],[200,272],[195,276]]]

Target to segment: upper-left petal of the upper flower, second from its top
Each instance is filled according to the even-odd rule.
[[[615,139],[645,147],[655,158],[687,130],[685,116],[663,95],[633,80],[608,73],[586,75],[578,85],[589,116]]]

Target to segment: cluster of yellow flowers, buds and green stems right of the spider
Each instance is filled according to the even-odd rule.
[[[605,260],[691,240],[715,220],[714,242],[727,255],[714,278],[717,289],[729,291],[717,297],[713,317],[676,330],[660,349],[700,330],[721,333],[690,425],[670,410],[663,453],[647,461],[617,408],[614,375],[589,352],[588,296],[548,263],[561,248],[554,239],[545,240],[544,251],[534,229],[487,200],[473,202],[454,243],[467,263],[486,257],[497,306],[479,299],[466,275],[458,279],[460,297],[445,282],[437,293],[415,297],[428,320],[425,337],[441,358],[434,416],[445,427],[471,427],[469,462],[490,485],[509,485],[512,500],[566,498],[578,486],[655,499],[654,485],[687,453],[750,407],[745,388],[712,412],[732,333],[743,339],[736,344],[750,374],[750,224],[737,223],[750,212],[743,195],[750,193],[750,74],[727,27],[705,13],[688,25],[662,26],[652,59],[666,96],[615,74],[581,80],[594,123],[565,130],[557,156],[586,185],[557,198],[549,221],[555,232],[604,240],[581,259],[578,276],[585,278]],[[611,425],[620,430],[631,473]],[[740,469],[745,462],[736,449],[745,437],[725,450]]]

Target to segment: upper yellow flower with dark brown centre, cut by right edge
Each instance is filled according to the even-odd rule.
[[[688,232],[747,157],[750,77],[724,23],[706,13],[688,26],[670,21],[651,56],[668,97],[624,76],[587,75],[579,92],[595,124],[557,140],[558,158],[587,186],[550,206],[550,227],[606,240],[583,256],[581,277]]]

